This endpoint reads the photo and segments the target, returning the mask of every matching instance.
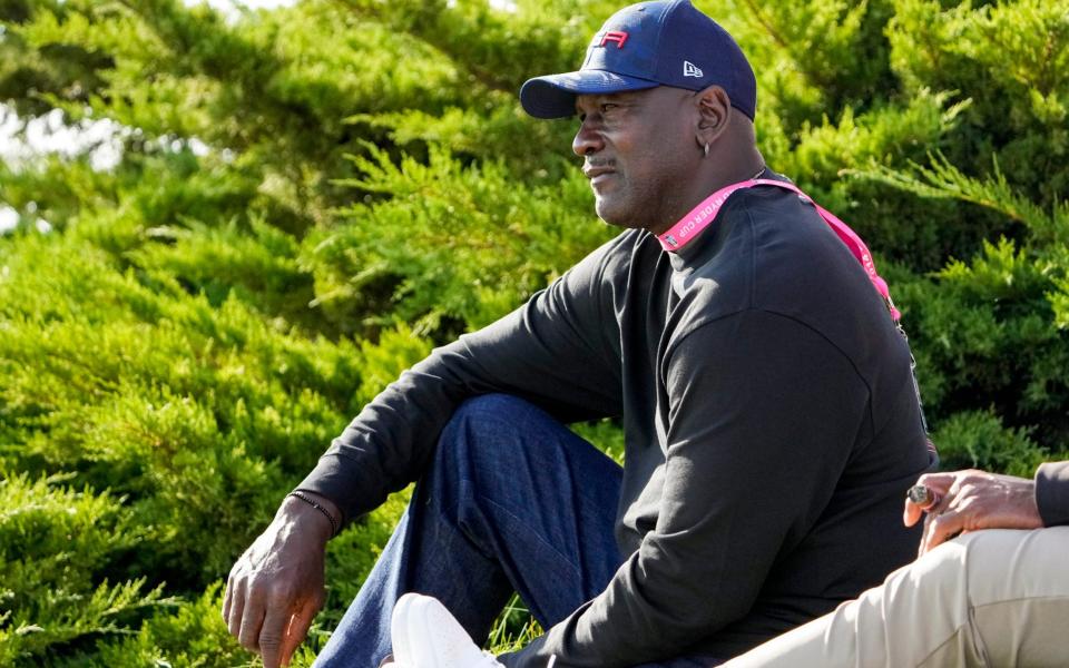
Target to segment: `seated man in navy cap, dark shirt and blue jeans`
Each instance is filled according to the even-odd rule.
[[[765,167],[732,37],[686,0],[635,4],[520,101],[577,118],[596,212],[625,232],[402,374],[284,501],[224,601],[266,668],[321,605],[337,525],[414,480],[316,666],[380,665],[413,591],[465,644],[518,591],[546,633],[491,659],[509,667],[715,665],[913,553],[910,352],[864,245]],[[565,426],[604,416],[622,469]]]

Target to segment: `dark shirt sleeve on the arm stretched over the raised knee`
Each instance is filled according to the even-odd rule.
[[[617,237],[520,308],[402,373],[297,489],[331,499],[346,521],[373,510],[422,474],[453,412],[479,394],[514,394],[563,422],[619,415],[619,330],[602,294],[619,245]]]

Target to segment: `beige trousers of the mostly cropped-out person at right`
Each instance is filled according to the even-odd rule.
[[[969,533],[724,668],[1069,666],[1069,527]]]

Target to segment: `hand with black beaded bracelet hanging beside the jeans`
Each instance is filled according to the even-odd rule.
[[[308,497],[340,517],[330,500]],[[323,606],[324,554],[332,530],[318,510],[287,497],[231,569],[223,619],[245,649],[263,656],[264,668],[290,665]]]

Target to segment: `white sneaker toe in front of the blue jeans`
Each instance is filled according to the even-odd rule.
[[[504,668],[430,596],[402,596],[393,608],[390,633],[398,668]]]

